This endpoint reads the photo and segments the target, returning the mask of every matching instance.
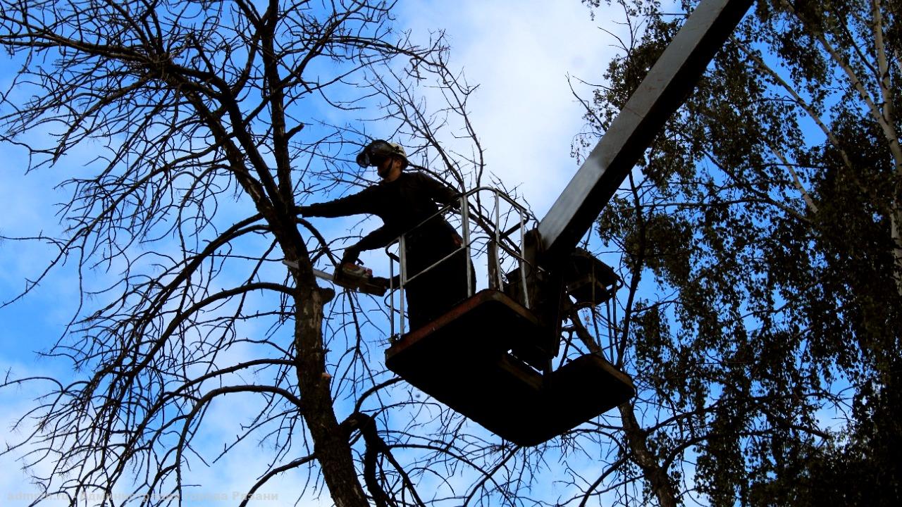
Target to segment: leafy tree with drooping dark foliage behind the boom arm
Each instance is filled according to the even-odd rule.
[[[621,5],[635,36],[577,153],[695,2]],[[662,505],[902,496],[897,16],[757,2],[600,217],[630,289],[624,453]]]

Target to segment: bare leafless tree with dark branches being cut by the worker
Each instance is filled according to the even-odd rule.
[[[84,273],[78,316],[47,355],[85,376],[4,383],[51,383],[5,451],[52,464],[36,477],[43,493],[77,504],[127,489],[116,503],[179,503],[188,467],[208,459],[195,439],[212,404],[251,399],[223,451],[249,438],[272,449],[268,468],[248,471],[248,493],[300,469],[336,505],[424,502],[377,430],[384,408],[365,405],[397,383],[369,361],[368,314],[318,287],[312,267],[330,244],[295,213],[309,196],[364,183],[346,161],[370,136],[350,119],[406,134],[458,187],[482,170],[478,145],[461,166],[437,135],[472,88],[446,69],[441,36],[421,46],[396,32],[393,6],[0,5],[0,43],[21,64],[0,139],[28,152],[29,171],[96,152],[86,176],[63,182],[61,237],[6,238],[57,252],[34,285],[62,263]],[[421,81],[446,90],[448,106],[427,114]],[[287,275],[282,259],[299,268]],[[97,270],[115,280],[92,286]],[[251,320],[262,336],[242,331]]]

